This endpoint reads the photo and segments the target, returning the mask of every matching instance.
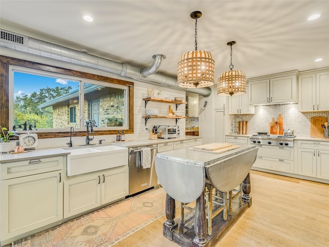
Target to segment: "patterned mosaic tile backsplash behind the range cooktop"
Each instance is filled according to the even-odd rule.
[[[274,105],[255,105],[255,114],[234,115],[248,121],[248,134],[257,132],[268,132],[268,122],[272,117],[276,120],[279,114],[284,118],[284,129],[295,131],[297,137],[310,136],[310,118],[326,117],[329,119],[329,112],[299,112],[298,104],[274,104]],[[234,126],[233,126],[234,127]]]

